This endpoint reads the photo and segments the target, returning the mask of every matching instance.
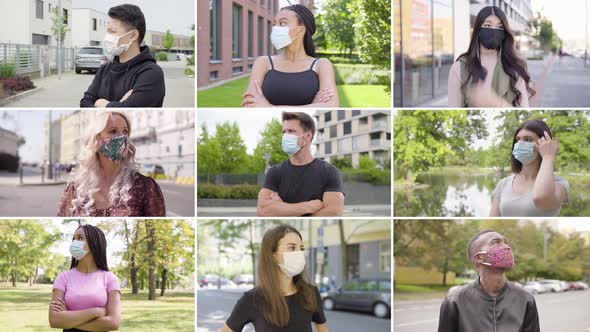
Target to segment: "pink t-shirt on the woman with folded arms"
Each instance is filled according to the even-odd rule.
[[[53,288],[64,291],[68,310],[105,308],[108,294],[120,291],[119,278],[112,272],[99,270],[86,274],[76,268],[60,273]]]

